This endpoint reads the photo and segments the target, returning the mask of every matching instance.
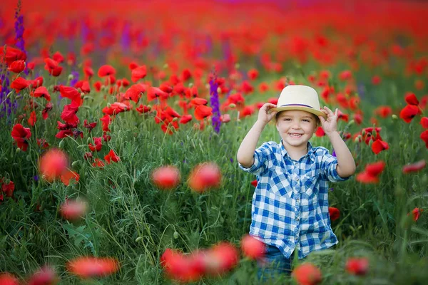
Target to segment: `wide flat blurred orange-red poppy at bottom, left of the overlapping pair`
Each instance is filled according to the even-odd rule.
[[[118,271],[118,261],[110,257],[78,257],[67,263],[68,271],[83,278],[102,277]]]

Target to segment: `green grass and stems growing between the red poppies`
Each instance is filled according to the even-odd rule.
[[[316,66],[308,63],[303,70]],[[287,71],[290,75],[293,70]],[[337,74],[337,70],[332,70]],[[371,86],[364,70],[355,75],[367,86],[362,110],[365,123],[347,126],[340,121],[339,129],[357,133],[370,127],[370,113],[378,105],[404,106],[403,95],[408,82],[403,78],[384,78],[381,86]],[[299,76],[296,76],[299,80]],[[264,77],[263,79],[270,79]],[[193,121],[181,125],[173,135],[165,135],[156,125],[153,115],[138,115],[134,110],[116,116],[111,124],[111,140],[103,143],[98,157],[103,158],[113,149],[121,162],[94,168],[83,159],[88,152],[88,138],[101,136],[101,122],[84,138],[58,140],[56,120],[61,108],[56,105],[53,80],[45,77],[54,103],[48,120],[41,120],[41,109],[36,110],[38,122],[31,128],[31,140],[26,152],[17,151],[10,131],[21,109],[9,120],[0,120],[0,177],[15,182],[14,199],[0,203],[0,271],[9,271],[25,278],[43,264],[53,264],[61,277],[61,284],[170,284],[165,279],[159,258],[166,248],[191,252],[220,241],[229,241],[239,247],[241,237],[250,227],[251,198],[255,179],[238,168],[235,155],[245,134],[255,122],[256,115],[236,121],[237,111],[230,111],[233,120],[223,124],[219,134],[208,123],[205,130],[195,130]],[[302,81],[302,83],[305,83]],[[342,84],[342,83],[337,83]],[[409,83],[411,84],[411,83]],[[395,93],[389,93],[395,90]],[[386,97],[385,94],[390,97]],[[21,103],[29,99],[23,92]],[[422,95],[421,94],[417,94]],[[13,93],[15,96],[15,93]],[[77,115],[94,121],[101,118],[102,94],[92,91]],[[250,95],[250,102],[277,96],[270,91],[263,96]],[[42,103],[43,99],[35,99]],[[108,98],[114,101],[113,97]],[[178,109],[171,100],[171,105]],[[29,110],[26,111],[29,115]],[[345,112],[344,113],[349,113]],[[351,113],[350,113],[351,114]],[[374,155],[364,143],[347,141],[355,152],[357,172],[377,160],[387,163],[380,182],[365,185],[355,181],[332,184],[330,207],[340,209],[340,219],[332,222],[339,244],[335,249],[313,252],[306,261],[322,270],[323,284],[424,284],[427,268],[427,214],[422,212],[417,223],[407,212],[414,207],[427,211],[428,177],[425,170],[403,175],[402,165],[424,158],[427,148],[419,138],[422,127],[419,118],[412,123],[401,119],[379,118],[381,135],[389,143],[389,150]],[[23,123],[24,126],[26,122]],[[46,138],[51,147],[61,147],[71,157],[74,171],[80,175],[77,185],[64,186],[61,182],[49,184],[34,181],[37,160],[42,151],[36,138]],[[258,145],[263,141],[279,141],[275,127],[267,125]],[[324,145],[331,150],[327,138],[312,138],[313,145]],[[220,166],[221,187],[203,194],[192,192],[186,179],[190,170],[200,162],[213,161]],[[151,170],[161,165],[176,165],[181,182],[173,191],[158,190],[151,183]],[[80,222],[66,222],[58,214],[59,205],[66,197],[85,197],[91,210]],[[39,210],[36,206],[39,205]],[[175,237],[174,237],[175,235]],[[80,281],[66,272],[66,261],[81,255],[116,257],[121,269],[104,279]],[[370,273],[364,277],[345,272],[347,257],[365,256],[370,259]],[[242,258],[238,266],[225,276],[203,279],[201,284],[257,284],[255,261]],[[83,282],[83,283],[81,283]],[[277,284],[284,284],[280,281]]]

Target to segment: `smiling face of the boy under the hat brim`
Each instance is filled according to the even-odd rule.
[[[317,130],[317,117],[301,110],[282,111],[276,127],[285,145],[304,148]]]

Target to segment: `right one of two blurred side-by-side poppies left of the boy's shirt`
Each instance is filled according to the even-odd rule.
[[[188,179],[189,187],[196,192],[205,192],[211,187],[220,187],[220,182],[220,168],[213,162],[196,165]]]

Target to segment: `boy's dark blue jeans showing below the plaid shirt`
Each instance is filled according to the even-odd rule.
[[[294,257],[294,252],[291,257],[287,259],[280,249],[275,246],[265,244],[265,255],[262,259],[257,261],[258,272],[257,276],[260,281],[275,281],[281,275],[291,274],[291,264]]]

